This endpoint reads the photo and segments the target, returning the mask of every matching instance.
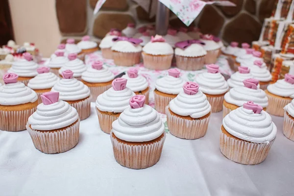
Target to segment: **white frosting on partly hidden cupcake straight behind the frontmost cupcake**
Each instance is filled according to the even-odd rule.
[[[127,74],[125,74],[122,77],[127,79],[126,87],[130,88],[133,92],[144,91],[148,87],[147,79],[142,75],[130,78]]]

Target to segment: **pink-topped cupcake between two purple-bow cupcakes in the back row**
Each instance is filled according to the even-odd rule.
[[[160,35],[151,37],[142,52],[144,66],[152,70],[167,70],[172,66],[173,49]]]

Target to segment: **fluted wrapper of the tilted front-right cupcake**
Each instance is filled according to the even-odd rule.
[[[263,162],[267,158],[274,140],[269,144],[248,142],[231,135],[221,125],[221,153],[231,161],[244,165],[256,165]]]

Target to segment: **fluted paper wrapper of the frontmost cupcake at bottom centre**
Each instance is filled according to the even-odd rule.
[[[144,145],[128,145],[119,142],[110,134],[114,158],[126,168],[145,169],[155,165],[161,156],[166,134],[157,142]]]

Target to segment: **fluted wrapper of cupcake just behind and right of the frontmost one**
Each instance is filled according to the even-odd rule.
[[[170,133],[175,137],[194,140],[203,137],[207,132],[210,115],[199,120],[187,120],[171,114],[166,107],[167,123]]]

